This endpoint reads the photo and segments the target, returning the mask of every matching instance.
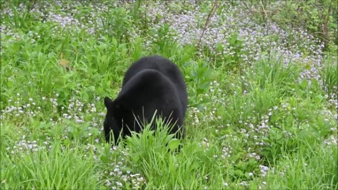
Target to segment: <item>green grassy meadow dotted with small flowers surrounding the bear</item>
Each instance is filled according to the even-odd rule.
[[[207,48],[180,45],[166,24],[152,28],[142,3],[154,2],[110,6],[95,35],[55,30],[7,3],[13,16],[1,22],[20,38],[1,33],[1,189],[338,188],[336,54],[311,83],[299,78],[297,63],[247,64],[240,49],[222,61]],[[197,5],[207,12],[208,3]],[[194,8],[176,5],[169,8]],[[75,7],[79,18],[94,10]],[[115,98],[130,64],[153,54],[176,63],[187,83],[186,138],[173,139],[157,120],[156,131],[147,125],[120,146],[105,143],[102,98]]]

